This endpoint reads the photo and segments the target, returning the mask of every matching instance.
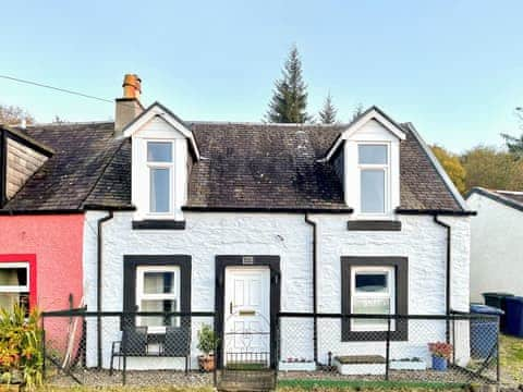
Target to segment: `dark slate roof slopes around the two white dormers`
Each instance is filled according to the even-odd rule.
[[[190,175],[192,208],[348,210],[330,162],[318,162],[341,125],[185,122],[202,159]],[[114,124],[35,125],[25,133],[56,154],[4,209],[131,208],[131,140]],[[414,137],[402,125],[401,208],[463,211]]]

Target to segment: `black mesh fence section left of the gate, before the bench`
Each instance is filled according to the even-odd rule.
[[[214,313],[72,309],[41,317],[45,379],[58,385],[215,384],[198,363],[198,332]]]

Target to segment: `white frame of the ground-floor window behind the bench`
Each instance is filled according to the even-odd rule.
[[[174,286],[173,293],[165,294],[146,294],[144,293],[144,275],[147,272],[173,272],[174,279],[172,284]],[[180,311],[181,302],[181,285],[180,285],[180,266],[138,266],[136,267],[136,306],[138,311],[142,310],[142,301],[177,301],[177,308],[174,311]],[[142,326],[142,317],[136,316],[136,326]],[[175,327],[180,326],[180,318],[175,318]],[[166,333],[166,327],[148,327],[148,333]]]

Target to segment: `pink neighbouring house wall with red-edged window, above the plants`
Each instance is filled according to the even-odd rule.
[[[0,307],[61,310],[83,295],[84,215],[0,217]]]

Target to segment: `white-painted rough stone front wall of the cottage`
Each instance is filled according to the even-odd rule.
[[[89,310],[96,309],[96,221],[106,212],[87,212],[85,223],[84,277]],[[122,310],[123,256],[170,255],[192,256],[192,310],[214,311],[215,257],[217,255],[277,255],[281,264],[281,310],[313,311],[312,241],[313,231],[303,215],[284,213],[210,213],[185,212],[185,230],[133,230],[133,212],[114,212],[104,225],[104,310]],[[350,216],[314,215],[318,224],[318,306],[323,313],[341,311],[341,256],[404,256],[409,258],[409,309],[411,314],[445,314],[446,230],[428,216],[399,216],[401,232],[350,232]],[[452,308],[469,309],[469,218],[441,218],[452,225]],[[200,320],[210,322],[210,320]],[[196,331],[193,322],[192,366],[196,366]],[[312,320],[287,320],[282,324],[282,357],[313,358]],[[430,341],[443,340],[442,323],[419,324],[411,331],[410,342],[393,343],[412,356],[426,356],[427,332]],[[339,321],[321,321],[318,328],[319,359],[328,352],[355,354],[365,345],[365,353],[379,344],[341,343]],[[118,340],[118,320],[104,322],[104,366],[109,365],[110,342]],[[467,338],[457,347],[466,360]],[[360,345],[360,346],[358,346]],[[382,344],[381,344],[382,345]],[[401,345],[401,346],[400,346]],[[374,348],[370,348],[374,347]],[[384,345],[385,347],[385,345]],[[415,354],[415,355],[414,355]],[[160,358],[162,359],[162,358]],[[182,368],[183,359],[141,358],[129,362],[129,368]],[[96,321],[87,323],[87,360],[96,364]]]

